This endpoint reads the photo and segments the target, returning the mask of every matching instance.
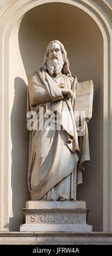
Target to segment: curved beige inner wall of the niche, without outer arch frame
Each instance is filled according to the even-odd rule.
[[[18,24],[19,26],[19,24]],[[11,34],[10,54],[10,174],[9,230],[18,230],[22,208],[29,199],[27,188],[28,131],[26,130],[27,77],[40,67],[47,44],[60,40],[66,48],[73,75],[78,81],[94,80],[94,110],[89,123],[91,161],[85,165],[77,199],[90,209],[88,223],[102,231],[103,176],[103,39],[98,26],[84,11],[63,3],[36,7],[24,15],[18,34]],[[19,45],[18,45],[19,42]],[[26,76],[27,75],[27,76]]]

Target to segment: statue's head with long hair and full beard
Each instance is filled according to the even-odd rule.
[[[69,60],[64,45],[58,40],[49,42],[41,70],[48,70],[49,75],[58,75],[60,72],[67,76],[71,76],[69,69]]]

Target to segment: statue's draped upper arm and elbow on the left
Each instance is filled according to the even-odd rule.
[[[47,90],[45,86],[43,86],[40,78],[37,79],[36,73],[33,73],[33,75],[29,77],[28,87],[29,100],[32,106],[49,101]]]

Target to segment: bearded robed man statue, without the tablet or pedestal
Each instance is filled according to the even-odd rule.
[[[87,124],[84,135],[78,137],[74,118],[76,84],[64,45],[58,40],[49,42],[41,68],[28,82],[27,113],[36,112],[38,117],[38,129],[29,132],[31,200],[76,200],[84,162],[90,160]],[[49,126],[48,113],[55,116],[54,129]]]

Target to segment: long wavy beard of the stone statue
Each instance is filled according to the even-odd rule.
[[[63,57],[55,58],[55,59],[47,59],[47,70],[49,72],[49,75],[52,76],[55,74],[56,76],[60,74],[61,70],[64,66],[64,60]]]

